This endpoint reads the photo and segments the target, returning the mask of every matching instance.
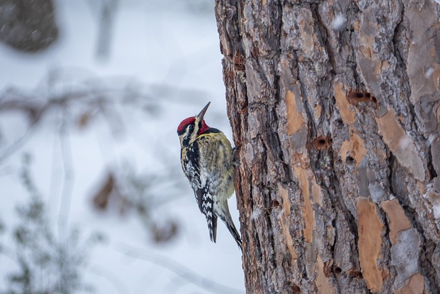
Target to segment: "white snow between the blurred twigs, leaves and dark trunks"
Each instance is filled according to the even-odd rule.
[[[28,153],[33,158],[34,182],[58,236],[63,235],[64,222],[79,227],[84,237],[92,231],[107,235],[107,244],[97,245],[89,254],[84,273],[96,293],[244,293],[239,249],[222,223],[217,244],[210,242],[206,222],[179,167],[177,125],[208,101],[212,103],[207,123],[232,138],[213,8],[203,12],[178,2],[167,8],[160,1],[120,1],[109,61],[102,62],[95,58],[97,15],[89,3],[57,2],[61,39],[50,50],[20,54],[0,45],[0,91],[15,87],[44,98],[96,78],[104,85],[144,89],[156,99],[158,113],[118,106],[122,134],[101,116],[81,129],[60,112],[47,115],[17,151],[0,161],[0,220],[6,227],[0,242],[14,249],[10,238],[18,221],[14,207],[29,198],[19,180],[21,160]],[[48,82],[45,76],[50,72]],[[160,91],[164,85],[170,88],[166,94]],[[195,98],[189,99],[192,94]],[[27,132],[28,124],[21,114],[0,114],[1,158],[6,147]],[[60,136],[61,129],[65,136]],[[159,158],[166,158],[165,166]],[[91,197],[105,171],[110,167],[124,173],[126,166],[144,174],[169,167],[179,170],[175,174],[184,185],[164,193],[175,200],[153,211],[154,218],[177,220],[181,230],[176,240],[157,245],[135,213],[119,216],[93,209]],[[70,169],[72,174],[66,177]],[[230,209],[239,224],[234,199]],[[0,292],[14,268],[14,260],[0,255]]]

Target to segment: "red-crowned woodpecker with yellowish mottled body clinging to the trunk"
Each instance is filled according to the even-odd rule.
[[[195,200],[206,217],[210,240],[217,239],[217,218],[225,223],[241,251],[241,237],[232,221],[228,198],[234,193],[231,143],[219,129],[208,127],[203,116],[210,102],[197,116],[185,118],[177,127],[181,168],[194,190]]]

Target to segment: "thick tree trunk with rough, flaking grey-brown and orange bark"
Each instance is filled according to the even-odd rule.
[[[248,293],[440,293],[439,4],[216,0]]]

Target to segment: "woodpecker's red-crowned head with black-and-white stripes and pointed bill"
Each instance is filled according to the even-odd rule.
[[[177,134],[179,135],[181,147],[188,146],[190,143],[194,142],[198,136],[209,129],[205,120],[203,120],[203,116],[209,105],[210,102],[201,109],[201,112],[197,114],[197,116],[190,116],[181,121],[179,127],[177,127]]]

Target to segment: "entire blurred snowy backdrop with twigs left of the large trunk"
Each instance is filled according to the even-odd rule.
[[[245,292],[176,134],[232,140],[214,1],[0,0],[0,69],[0,293]]]

